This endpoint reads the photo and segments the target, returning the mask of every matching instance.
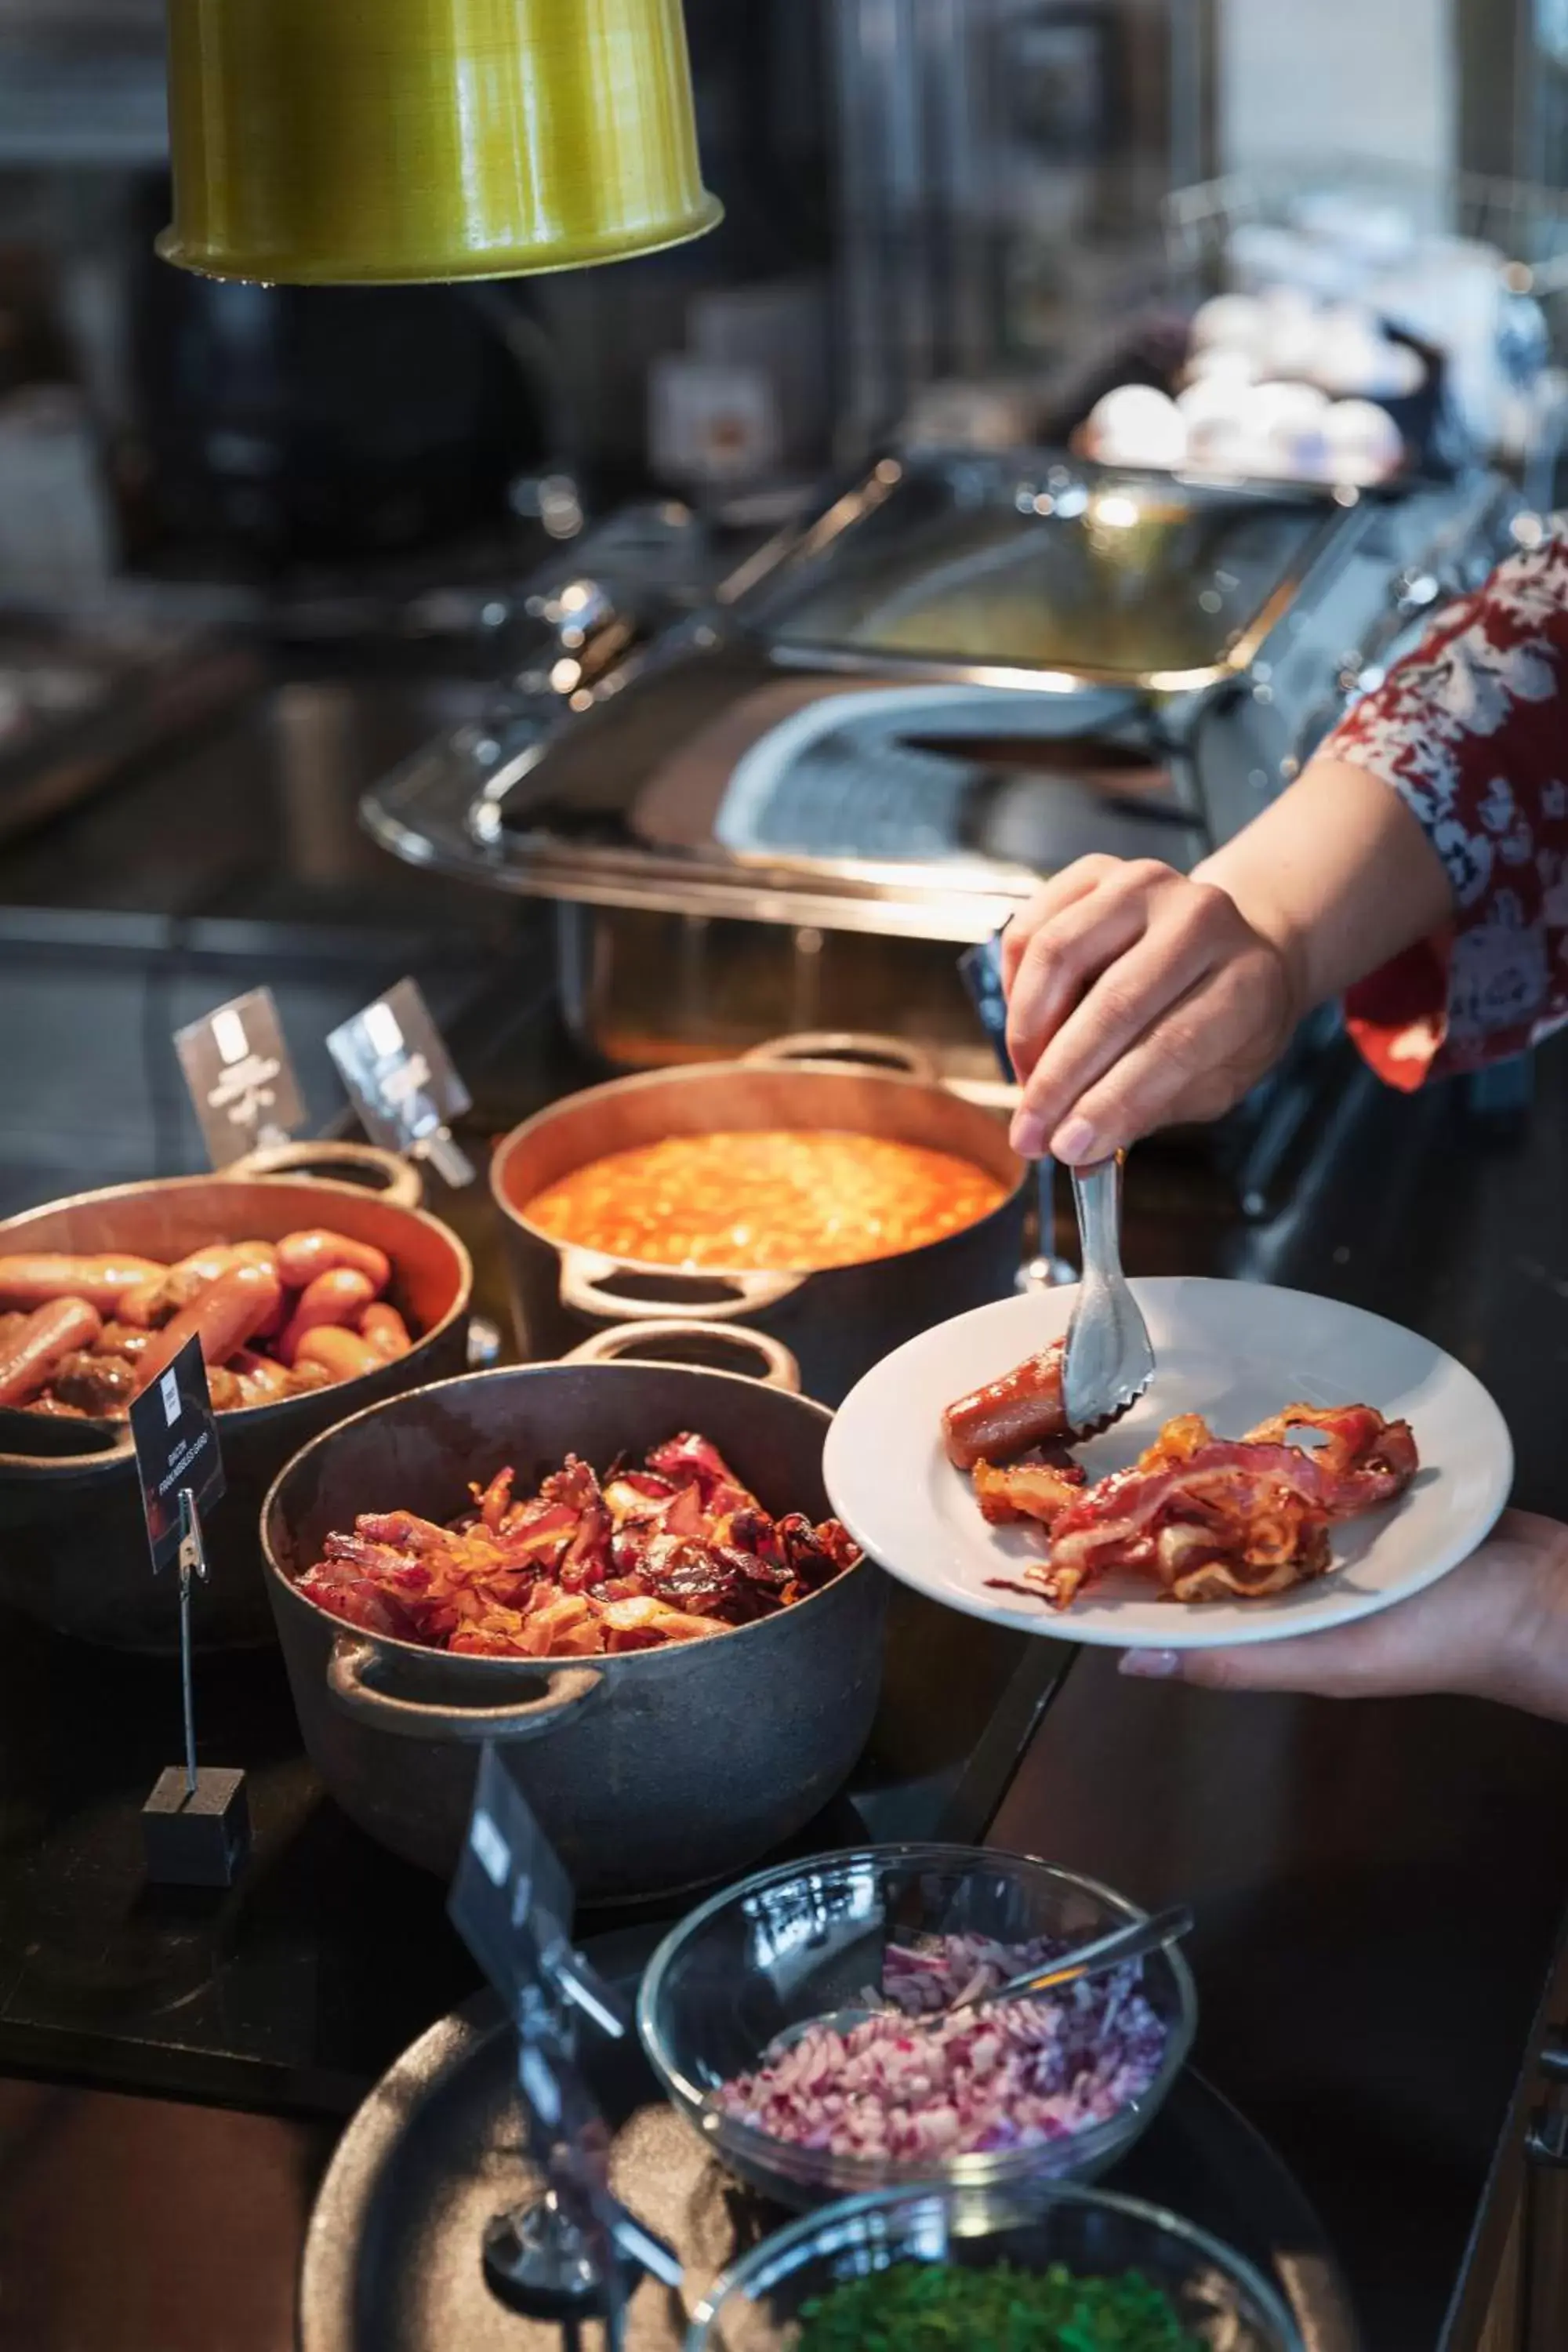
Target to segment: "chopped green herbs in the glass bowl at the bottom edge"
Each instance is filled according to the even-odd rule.
[[[1135,2270],[896,2263],[802,2310],[799,2352],[1201,2352],[1168,2296]]]

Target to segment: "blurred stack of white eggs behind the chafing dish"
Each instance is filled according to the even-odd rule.
[[[1121,383],[1084,440],[1107,466],[1366,487],[1399,473],[1406,454],[1380,402],[1420,390],[1425,374],[1420,353],[1356,303],[1319,306],[1298,289],[1218,294],[1192,322],[1175,400]]]

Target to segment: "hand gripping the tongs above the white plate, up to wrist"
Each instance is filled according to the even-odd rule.
[[[1154,858],[1079,858],[1001,943],[1023,1084],[1013,1150],[1107,1160],[1171,1120],[1218,1120],[1307,1011],[1284,943]]]

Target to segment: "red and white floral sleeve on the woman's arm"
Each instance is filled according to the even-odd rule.
[[[1523,1054],[1568,1021],[1568,541],[1450,604],[1324,746],[1380,776],[1453,882],[1453,924],[1345,1018],[1392,1087]]]

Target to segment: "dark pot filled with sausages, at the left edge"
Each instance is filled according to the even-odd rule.
[[[176,1646],[127,1414],[195,1336],[228,1477],[195,1632],[270,1639],[273,1475],[357,1406],[461,1371],[470,1289],[456,1235],[357,1185],[190,1176],[0,1223],[0,1602],[113,1649]]]

